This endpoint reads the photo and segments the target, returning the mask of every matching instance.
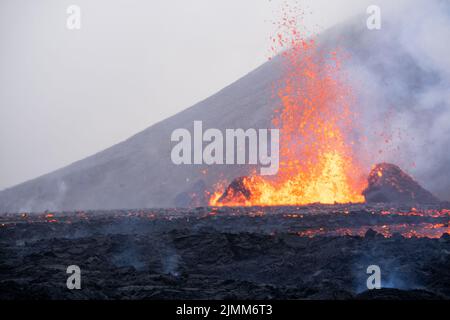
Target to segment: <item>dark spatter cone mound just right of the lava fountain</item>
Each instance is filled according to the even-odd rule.
[[[363,195],[368,203],[439,203],[431,192],[390,163],[380,163],[372,169]]]

